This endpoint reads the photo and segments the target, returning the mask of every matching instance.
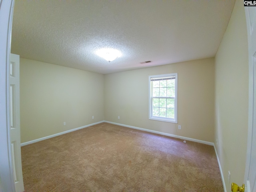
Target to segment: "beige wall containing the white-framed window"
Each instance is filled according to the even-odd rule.
[[[148,119],[148,76],[168,73],[178,73],[178,124]],[[104,82],[106,121],[214,141],[214,58],[106,74]]]

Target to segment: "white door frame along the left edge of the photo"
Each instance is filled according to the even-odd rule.
[[[0,0],[0,192],[15,191],[10,149],[9,62],[14,0]]]

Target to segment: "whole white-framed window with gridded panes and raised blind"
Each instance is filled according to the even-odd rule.
[[[177,123],[178,74],[149,76],[149,119]]]

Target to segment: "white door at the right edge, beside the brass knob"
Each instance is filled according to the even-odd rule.
[[[256,7],[245,7],[249,52],[249,117],[245,190],[256,192]]]

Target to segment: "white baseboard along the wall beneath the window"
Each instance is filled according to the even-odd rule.
[[[142,130],[142,131],[147,131],[147,132],[151,132],[151,133],[156,133],[156,134],[160,134],[160,135],[175,137],[175,138],[179,138],[179,139],[182,139],[182,140],[194,141],[194,142],[198,142],[198,143],[203,143],[203,144],[207,144],[207,145],[212,145],[212,146],[214,146],[214,143],[208,142],[208,141],[202,141],[202,140],[198,140],[198,139],[192,139],[192,138],[188,138],[188,137],[182,137],[182,136],[178,136],[178,135],[173,135],[173,134],[163,133],[163,132],[154,131],[154,130],[150,130],[150,129],[144,129],[144,128],[139,128],[139,127],[134,127],[134,126],[130,126],[130,125],[124,125],[124,124],[120,124],[120,123],[114,123],[114,122],[109,122],[109,121],[104,121],[104,122],[110,123],[110,124],[114,124],[114,125],[120,125],[120,126],[123,126],[123,127],[138,129],[138,130]]]

